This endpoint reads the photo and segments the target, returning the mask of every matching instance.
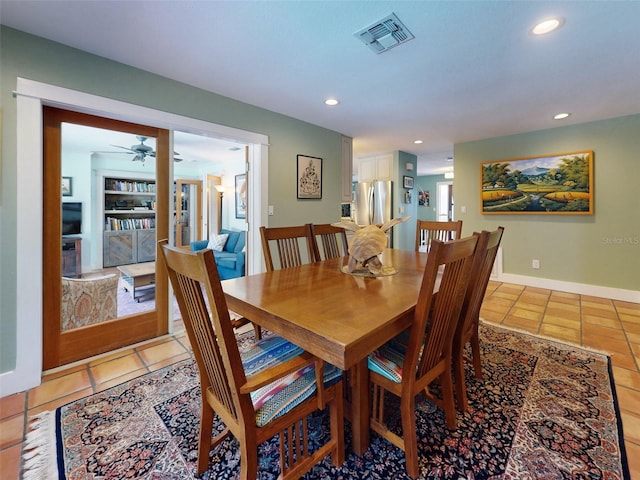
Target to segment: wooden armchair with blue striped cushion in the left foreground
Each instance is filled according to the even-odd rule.
[[[212,251],[183,250],[167,240],[159,245],[200,372],[198,475],[209,466],[211,448],[229,434],[240,444],[243,480],[258,478],[258,445],[275,435],[279,478],[297,479],[328,454],[341,465],[342,371],[276,335],[240,353]],[[317,431],[307,417],[327,405],[330,438],[310,452],[309,439]],[[214,414],[226,429],[212,438]]]

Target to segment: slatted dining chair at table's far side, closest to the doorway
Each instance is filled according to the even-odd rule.
[[[313,247],[309,224],[293,227],[260,227],[262,238],[262,253],[267,271],[280,268],[297,267],[314,261]],[[272,244],[277,252],[277,262],[274,264]]]

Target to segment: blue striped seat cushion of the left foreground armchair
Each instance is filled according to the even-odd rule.
[[[255,344],[253,348],[241,354],[245,374],[249,377],[256,373],[284,363],[303,353],[293,343],[270,335]],[[326,363],[324,365],[324,384],[329,387],[342,378],[342,370]],[[277,381],[251,392],[251,401],[256,411],[256,424],[261,427],[286,414],[315,394],[317,390],[314,364],[311,363]]]

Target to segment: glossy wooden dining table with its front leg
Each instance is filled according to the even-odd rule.
[[[411,325],[427,254],[386,249],[397,273],[344,273],[348,257],[222,282],[230,310],[349,371],[353,450],[369,446],[367,356]]]

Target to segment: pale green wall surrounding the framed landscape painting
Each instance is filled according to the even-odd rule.
[[[480,213],[481,162],[578,150],[594,152],[594,215]],[[456,217],[467,233],[505,227],[505,273],[640,291],[640,115],[457,144],[454,154]]]

